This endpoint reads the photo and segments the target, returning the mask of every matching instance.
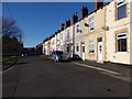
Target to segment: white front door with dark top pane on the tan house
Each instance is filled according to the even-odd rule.
[[[102,62],[102,37],[98,38],[98,62]]]

